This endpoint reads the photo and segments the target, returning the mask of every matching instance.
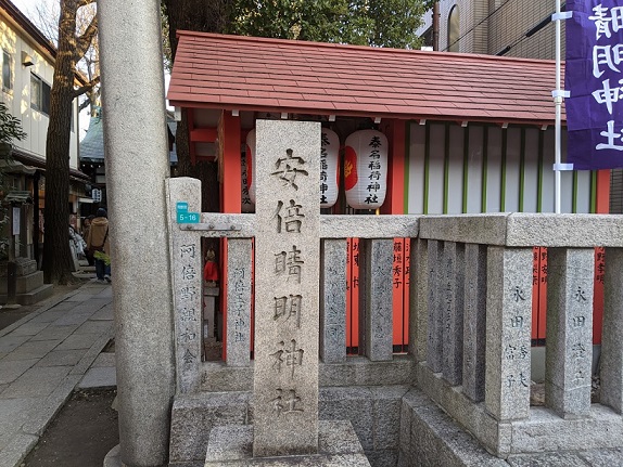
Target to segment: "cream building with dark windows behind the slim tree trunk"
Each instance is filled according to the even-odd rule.
[[[50,92],[54,77],[56,48],[10,1],[0,0],[1,100],[22,121],[27,137],[14,141],[13,157],[35,168],[31,176],[9,174],[9,189],[29,191],[34,203],[22,207],[23,229],[17,257],[39,259],[46,207],[46,139],[50,113]],[[79,212],[88,178],[78,170],[78,101],[73,103],[69,142],[71,212]],[[68,222],[72,220],[69,219]]]

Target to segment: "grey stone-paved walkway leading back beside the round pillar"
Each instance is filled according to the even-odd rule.
[[[76,388],[115,386],[112,287],[88,282],[0,330],[0,467],[16,467]]]

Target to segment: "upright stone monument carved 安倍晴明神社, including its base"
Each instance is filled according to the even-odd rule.
[[[349,421],[318,420],[320,124],[256,131],[253,426],[214,428],[205,465],[369,466]]]

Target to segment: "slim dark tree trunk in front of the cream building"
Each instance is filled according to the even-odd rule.
[[[50,115],[46,139],[46,241],[43,276],[47,283],[67,284],[72,275],[68,242],[69,138],[72,102],[99,83],[99,76],[88,85],[75,88],[76,65],[89,50],[98,33],[97,16],[78,31],[77,16],[81,7],[96,0],[61,0],[59,43],[54,80],[50,92]]]

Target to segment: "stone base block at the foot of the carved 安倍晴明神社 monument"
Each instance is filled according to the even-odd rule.
[[[253,426],[229,425],[209,432],[205,467],[370,467],[348,420],[318,421],[318,454],[253,457]]]

